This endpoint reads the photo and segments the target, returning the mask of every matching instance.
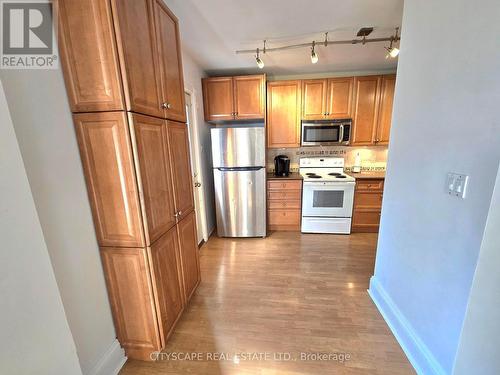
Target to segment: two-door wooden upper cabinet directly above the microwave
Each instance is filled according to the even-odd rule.
[[[302,119],[350,118],[353,86],[352,77],[304,80]]]

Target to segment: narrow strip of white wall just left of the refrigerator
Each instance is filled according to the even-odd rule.
[[[182,19],[179,20],[182,22]],[[182,36],[181,36],[182,37]],[[182,39],[181,39],[182,41]],[[211,125],[205,122],[203,114],[203,91],[201,79],[205,77],[203,70],[193,60],[189,52],[183,50],[182,64],[184,68],[184,86],[186,90],[194,93],[194,108],[198,140],[200,142],[201,172],[203,176],[202,188],[205,194],[205,208],[207,219],[207,230],[210,234],[215,228],[215,197],[214,179],[212,174],[212,143],[210,139]]]

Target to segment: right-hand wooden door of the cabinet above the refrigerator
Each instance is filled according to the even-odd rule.
[[[237,120],[264,118],[265,82],[264,75],[233,77],[234,111]]]

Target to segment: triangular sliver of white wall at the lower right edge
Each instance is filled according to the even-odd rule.
[[[455,375],[500,374],[500,169],[467,306]]]

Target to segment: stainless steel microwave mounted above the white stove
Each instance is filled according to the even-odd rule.
[[[302,146],[348,145],[351,119],[302,121]]]

